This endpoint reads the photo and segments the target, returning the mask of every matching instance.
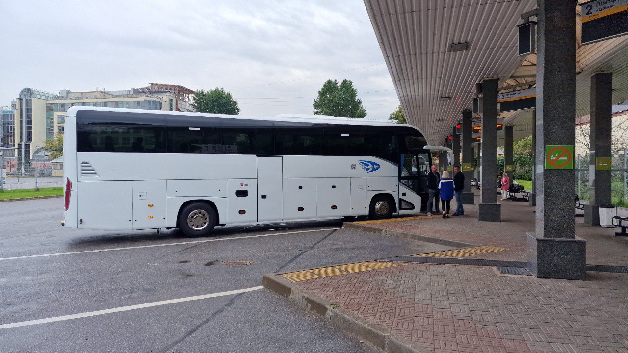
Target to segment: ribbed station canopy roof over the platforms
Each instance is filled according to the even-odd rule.
[[[499,78],[500,87],[511,87],[502,92],[535,86],[536,55],[517,57],[516,26],[536,0],[364,3],[406,119],[431,144],[443,143],[461,112],[472,108],[475,84],[482,79]],[[589,114],[592,73],[613,72],[613,104],[628,99],[628,36],[581,45],[580,6],[574,11],[577,119]],[[532,134],[531,109],[501,117],[514,126],[514,139]]]

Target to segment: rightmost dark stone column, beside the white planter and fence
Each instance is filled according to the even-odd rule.
[[[610,204],[610,168],[595,170],[595,158],[611,156],[613,74],[591,75],[591,115],[589,121],[589,204],[585,205],[585,223],[600,225],[600,205]]]

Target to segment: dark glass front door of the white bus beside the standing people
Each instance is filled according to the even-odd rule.
[[[416,205],[416,212],[424,212],[427,209],[428,188],[427,173],[430,170],[430,156],[428,152],[401,152],[399,153],[399,182],[421,197],[420,210]],[[399,194],[401,195],[401,186]],[[403,198],[400,196],[400,198]],[[399,210],[403,210],[403,202],[400,202]]]

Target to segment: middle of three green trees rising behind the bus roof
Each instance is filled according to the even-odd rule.
[[[357,98],[357,90],[350,80],[343,80],[340,84],[337,80],[327,80],[318,91],[313,106],[316,115],[366,116],[366,109],[362,106],[362,100]]]

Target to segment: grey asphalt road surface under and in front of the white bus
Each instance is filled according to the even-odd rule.
[[[62,208],[62,198],[0,203],[0,352],[379,352],[257,288],[263,274],[448,249],[339,219],[195,239],[79,231],[60,225]],[[232,260],[252,264],[224,265]],[[250,291],[224,293],[234,290]]]

